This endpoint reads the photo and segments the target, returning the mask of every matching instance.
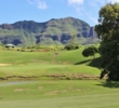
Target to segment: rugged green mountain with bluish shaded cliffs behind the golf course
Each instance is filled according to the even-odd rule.
[[[45,23],[34,21],[16,22],[0,25],[0,42],[15,45],[63,44],[77,35],[77,42],[85,44],[95,41],[95,32],[85,22],[66,17]],[[89,41],[90,40],[90,41]]]

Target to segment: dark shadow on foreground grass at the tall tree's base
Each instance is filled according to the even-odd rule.
[[[101,86],[105,86],[105,87],[110,87],[110,89],[116,89],[116,87],[119,87],[119,82],[105,81],[105,82],[102,82],[101,84],[96,84],[96,85],[101,85]]]

